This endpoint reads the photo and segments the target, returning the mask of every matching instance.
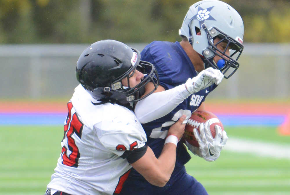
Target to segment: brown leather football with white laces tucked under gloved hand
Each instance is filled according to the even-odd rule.
[[[197,110],[193,112],[191,114],[191,117],[188,119],[185,125],[183,138],[191,145],[199,147],[199,144],[194,137],[193,129],[196,128],[198,132],[200,132],[199,130],[200,123],[205,123],[206,121],[209,121],[210,123],[210,129],[213,138],[215,138],[215,125],[219,125],[222,128],[222,130],[224,130],[222,122],[220,121],[220,119],[218,119],[218,117],[215,114],[205,110]]]

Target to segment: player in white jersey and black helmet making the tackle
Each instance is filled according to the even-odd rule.
[[[146,134],[133,103],[159,85],[155,67],[124,43],[102,40],[77,61],[80,85],[68,102],[61,154],[45,195],[119,194],[133,167],[162,187],[175,166],[176,145],[185,115],[168,130],[159,158],[146,146]],[[142,96],[144,86],[154,89]]]

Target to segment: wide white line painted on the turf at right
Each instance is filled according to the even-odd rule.
[[[224,150],[252,153],[258,156],[290,159],[290,144],[273,144],[238,138],[229,138]]]

